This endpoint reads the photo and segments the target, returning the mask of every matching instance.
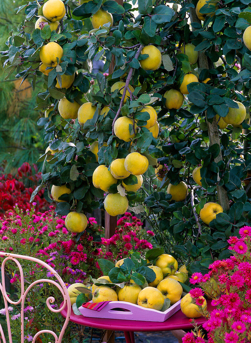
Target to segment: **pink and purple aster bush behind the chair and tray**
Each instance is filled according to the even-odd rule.
[[[146,238],[154,234],[142,227],[139,219],[130,213],[125,213],[124,217],[118,220],[118,227],[114,236],[110,239],[101,238],[95,241],[97,236],[91,236],[87,232],[77,241],[75,233],[69,233],[65,227],[65,217],[55,216],[54,207],[50,206],[49,211],[44,213],[35,212],[36,203],[32,209],[27,209],[26,213],[19,208],[15,208],[15,213],[9,215],[0,222],[0,250],[21,255],[37,257],[47,262],[54,268],[64,280],[68,287],[71,283],[83,282],[88,275],[100,276],[101,270],[97,260],[106,258],[115,261],[128,255],[132,250],[144,253],[146,249],[152,247]],[[97,231],[101,236],[103,229],[99,227],[95,218],[89,218],[93,231]],[[107,252],[107,246],[110,251]],[[24,277],[28,283],[37,279],[54,279],[52,272],[32,262],[24,262]],[[16,287],[17,295],[20,289],[20,275],[16,271],[16,265],[8,263],[5,268],[11,274],[10,283]],[[32,296],[27,297],[25,311],[25,334],[26,340],[32,341],[32,337],[38,331],[48,325],[55,323],[55,315],[45,306],[45,299],[54,296],[56,301],[52,307],[58,307],[62,297],[60,293],[50,284],[37,284],[32,289]],[[11,326],[13,335],[19,334],[20,309],[12,307]],[[0,310],[0,314],[5,314],[5,310]],[[58,316],[55,330],[60,330],[62,318]],[[70,331],[72,324],[68,328],[65,342],[72,342]],[[39,341],[40,340],[40,341]],[[48,340],[40,337],[38,343],[47,343]]]

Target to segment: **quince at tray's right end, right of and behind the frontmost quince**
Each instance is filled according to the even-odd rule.
[[[182,286],[179,282],[170,278],[160,281],[157,289],[162,293],[164,299],[170,299],[171,305],[180,300],[183,292]]]

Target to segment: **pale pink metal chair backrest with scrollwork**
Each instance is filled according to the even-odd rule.
[[[50,306],[50,304],[54,303],[55,298],[54,297],[48,297],[46,299],[47,307],[49,308],[50,311],[58,313],[58,312],[61,312],[67,306],[67,317],[65,319],[64,325],[62,326],[62,329],[61,329],[59,336],[57,336],[57,334],[51,330],[46,330],[46,329],[40,330],[39,332],[37,332],[34,335],[34,337],[32,339],[32,343],[34,343],[36,341],[37,337],[39,335],[41,335],[42,333],[51,334],[55,339],[55,343],[61,343],[62,338],[63,338],[64,333],[65,333],[65,330],[66,330],[66,327],[68,325],[68,322],[70,319],[70,313],[71,313],[70,297],[69,297],[67,288],[64,284],[64,281],[61,279],[59,274],[52,267],[50,267],[50,265],[48,265],[47,263],[45,263],[39,259],[30,257],[30,256],[16,255],[16,254],[2,252],[2,251],[0,251],[0,256],[3,258],[5,257],[2,264],[1,264],[2,284],[0,283],[0,291],[2,292],[2,295],[3,295],[4,307],[5,307],[5,311],[6,311],[6,321],[7,321],[7,327],[8,327],[9,342],[12,343],[11,328],[10,328],[10,315],[9,315],[9,310],[8,310],[8,307],[10,306],[9,304],[12,304],[12,305],[21,304],[21,312],[20,312],[20,314],[21,314],[21,316],[20,316],[20,319],[21,319],[21,332],[20,332],[21,341],[20,341],[20,343],[24,343],[24,301],[25,301],[25,298],[27,296],[27,293],[30,291],[30,289],[32,289],[32,287],[34,287],[34,285],[39,284],[39,283],[48,282],[50,284],[55,285],[59,289],[59,291],[62,294],[62,297],[64,298],[64,303],[59,309],[52,308]],[[11,300],[8,297],[8,295],[6,293],[6,289],[5,289],[4,268],[5,268],[5,263],[8,260],[12,260],[16,263],[16,265],[19,269],[19,273],[20,273],[21,296],[17,301]],[[19,260],[33,261],[37,264],[42,265],[43,267],[45,267],[46,269],[48,269],[50,272],[52,272],[55,275],[57,282],[54,280],[49,280],[49,279],[39,279],[39,280],[36,280],[33,283],[29,284],[28,287],[25,289],[25,287],[24,287],[24,273],[23,273],[23,269],[22,269],[22,266],[21,266],[21,263],[19,262]],[[0,324],[0,336],[2,336],[3,343],[7,343],[1,324]],[[1,339],[0,339],[0,342],[1,342]]]

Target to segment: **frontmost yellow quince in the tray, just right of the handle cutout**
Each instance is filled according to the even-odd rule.
[[[140,291],[137,304],[160,311],[164,305],[164,297],[157,288],[148,286]]]

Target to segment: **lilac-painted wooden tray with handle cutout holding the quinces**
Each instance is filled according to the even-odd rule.
[[[83,316],[92,318],[163,322],[180,310],[180,302],[181,300],[164,312],[127,303],[126,301],[111,301],[101,311],[94,311],[80,306],[79,311]]]

